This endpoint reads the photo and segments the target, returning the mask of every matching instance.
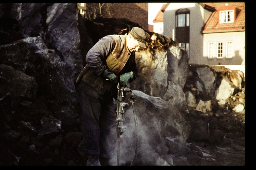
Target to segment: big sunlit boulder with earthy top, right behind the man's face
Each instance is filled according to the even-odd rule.
[[[186,100],[183,87],[189,71],[187,53],[168,36],[151,32],[148,36],[147,49],[136,52],[138,78],[130,87],[180,109]]]

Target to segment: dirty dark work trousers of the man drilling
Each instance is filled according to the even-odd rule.
[[[117,144],[116,113],[112,87],[100,95],[95,89],[81,81],[79,92],[83,126],[83,146],[87,154],[110,159]]]

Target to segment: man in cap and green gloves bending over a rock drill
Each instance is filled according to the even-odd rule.
[[[101,38],[86,55],[87,65],[77,78],[81,99],[83,148],[88,165],[109,165],[113,157],[116,85],[126,86],[137,77],[135,51],[146,48],[147,34],[133,27],[125,35]],[[81,81],[82,80],[82,81]],[[116,137],[116,136],[115,136]]]

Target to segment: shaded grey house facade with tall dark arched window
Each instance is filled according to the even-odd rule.
[[[174,30],[175,41],[188,52],[189,63],[203,64],[198,60],[203,55],[201,30],[212,12],[205,10],[199,3],[169,3],[163,10],[163,35],[173,37]],[[177,32],[184,26],[187,27],[186,36],[182,39],[184,34]]]

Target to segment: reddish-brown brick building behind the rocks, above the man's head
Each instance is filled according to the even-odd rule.
[[[148,3],[77,3],[84,19],[125,18],[148,30]]]

